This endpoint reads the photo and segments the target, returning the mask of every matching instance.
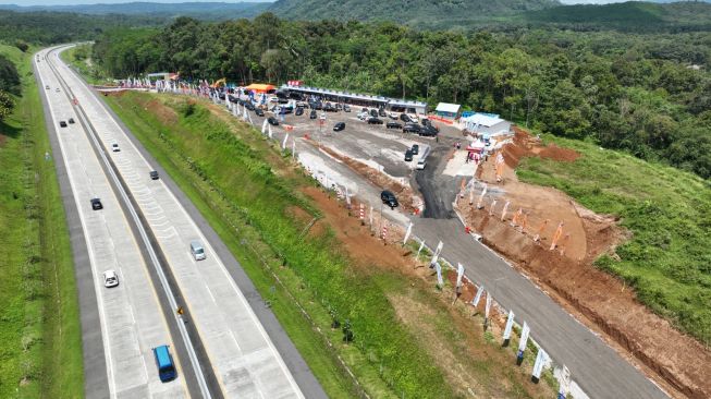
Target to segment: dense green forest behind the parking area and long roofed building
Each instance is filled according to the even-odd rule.
[[[253,21],[122,29],[94,57],[117,77],[180,71],[463,104],[711,177],[711,36],[557,28],[428,32],[394,23]]]

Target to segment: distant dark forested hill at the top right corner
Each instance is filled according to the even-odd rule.
[[[711,31],[711,3],[685,1],[655,4],[641,1],[578,4],[530,11],[526,22],[576,29],[614,28],[627,32]]]

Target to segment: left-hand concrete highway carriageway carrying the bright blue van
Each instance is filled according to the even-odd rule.
[[[174,347],[167,321],[131,223],[103,173],[78,116],[73,111],[70,98],[49,69],[47,53],[46,50],[38,53],[40,62],[35,60],[35,66],[48,109],[47,119],[54,126],[53,138],[60,148],[56,156],[66,172],[61,176],[69,181],[76,206],[76,213],[71,215],[81,225],[81,231],[73,233],[84,240],[88,255],[88,258],[79,256],[76,259],[77,283],[93,289],[93,298],[96,299],[94,304],[86,306],[89,310],[96,306],[97,312],[87,314],[84,312],[87,307],[83,306],[82,314],[83,326],[99,328],[99,331],[84,328],[89,335],[84,337],[86,396],[188,397],[185,378],[179,377],[169,383],[161,383],[158,378],[151,348],[160,344]],[[59,126],[60,121],[70,118],[75,123]],[[94,197],[101,200],[103,209],[91,209],[89,200]],[[102,274],[108,269],[117,271],[118,287],[103,287]],[[91,340],[100,341],[100,344],[91,344]],[[173,356],[177,370],[182,371],[180,356],[176,353]]]

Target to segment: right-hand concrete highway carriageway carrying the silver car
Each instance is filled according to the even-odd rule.
[[[94,136],[125,185],[136,211],[150,230],[156,251],[163,261],[176,297],[181,298],[180,305],[192,321],[189,328],[195,334],[191,341],[198,352],[200,370],[212,396],[326,397],[273,315],[253,309],[258,294],[248,291],[250,298],[245,297],[241,288],[254,287],[242,280],[236,282],[246,277],[233,269],[238,264],[225,254],[224,244],[211,229],[206,228],[195,209],[186,206],[184,194],[168,176],[161,173],[158,180],[149,178],[149,171],[162,169],[130,137],[96,93],[63,64],[57,57],[59,51],[61,49],[53,51],[48,60],[71,87],[90,131],[95,132]],[[120,150],[110,149],[114,144]],[[195,259],[189,250],[193,241],[205,247],[206,259]],[[274,341],[279,343],[279,350]],[[286,360],[280,350],[287,353]]]

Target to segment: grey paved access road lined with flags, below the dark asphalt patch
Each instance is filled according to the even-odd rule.
[[[491,291],[516,321],[528,323],[531,337],[590,396],[609,399],[666,398],[641,372],[566,313],[530,280],[485,245],[465,234],[458,219],[417,218],[414,232],[430,246],[442,240],[442,257],[462,263],[465,275]],[[512,359],[512,362],[514,360]]]

